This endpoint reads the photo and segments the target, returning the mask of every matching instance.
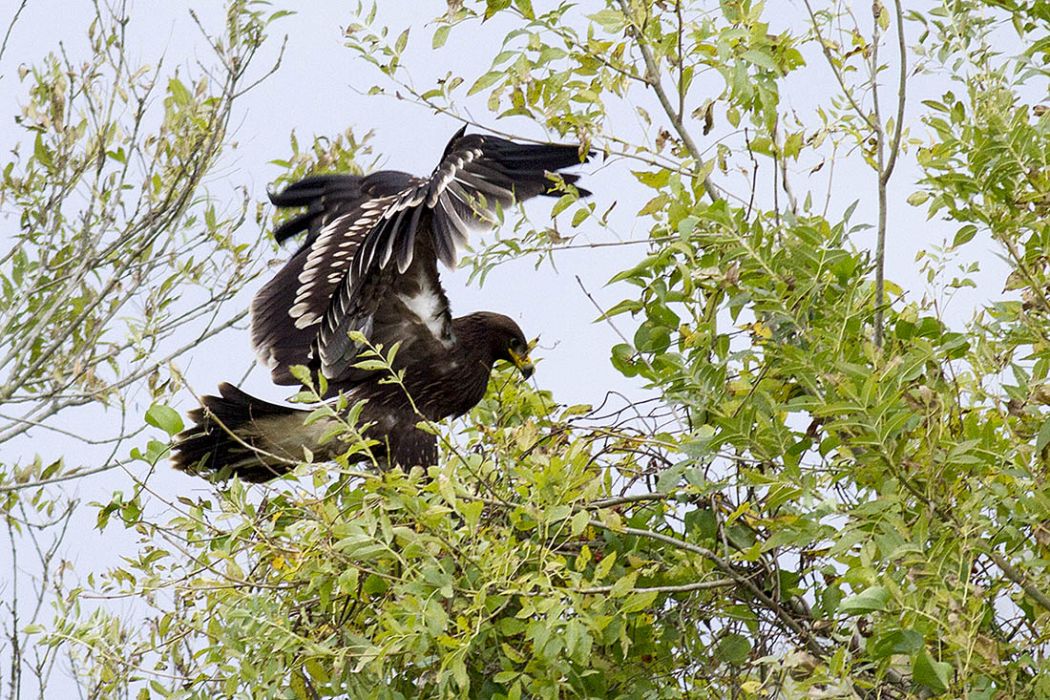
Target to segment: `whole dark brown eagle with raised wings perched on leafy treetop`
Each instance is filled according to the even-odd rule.
[[[562,196],[579,175],[561,172],[589,152],[575,145],[520,144],[460,129],[429,177],[381,170],[324,174],[290,185],[270,200],[303,210],[274,231],[278,242],[306,234],[251,304],[251,340],[277,384],[297,385],[304,366],[322,399],[357,406],[372,447],[353,461],[381,468],[437,462],[436,437],[418,426],[472,408],[497,361],[532,374],[529,345],[512,319],[491,312],[453,318],[438,262],[456,264],[468,230],[494,228],[503,208]],[[375,359],[391,351],[390,367]],[[401,379],[392,380],[392,370]],[[301,377],[302,375],[300,375]],[[346,453],[333,413],[262,401],[229,383],[205,396],[175,437],[176,469],[209,479],[267,482],[312,454]],[[308,450],[308,451],[307,451]]]

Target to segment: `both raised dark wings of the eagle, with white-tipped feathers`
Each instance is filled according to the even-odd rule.
[[[468,230],[494,226],[502,207],[559,196],[549,173],[580,162],[576,146],[516,144],[461,129],[427,178],[324,175],[272,196],[278,207],[308,208],[275,232],[278,240],[308,236],[252,305],[253,344],[274,381],[295,383],[288,366],[309,364],[330,381],[353,382],[351,330],[373,343],[400,341],[402,351],[449,345],[437,260],[454,267]]]

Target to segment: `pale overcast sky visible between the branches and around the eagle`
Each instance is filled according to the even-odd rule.
[[[6,26],[14,12],[13,0],[0,3],[0,23]],[[217,27],[220,14],[214,2],[191,3],[202,14],[206,24]],[[417,174],[428,173],[437,163],[448,136],[460,124],[448,116],[436,115],[418,106],[390,98],[368,98],[363,92],[374,84],[381,84],[380,76],[372,66],[362,66],[355,55],[342,47],[342,27],[351,21],[348,5],[353,3],[312,2],[297,3],[298,14],[284,19],[273,31],[289,35],[287,54],[280,70],[249,93],[240,104],[234,119],[235,140],[238,147],[223,161],[217,175],[208,182],[214,194],[231,193],[233,188],[247,185],[256,199],[265,197],[268,185],[279,174],[279,169],[269,162],[282,157],[289,152],[289,134],[294,130],[300,143],[309,143],[315,134],[336,134],[353,127],[358,133],[375,132],[372,141],[374,152],[381,156],[381,167],[405,170]],[[542,2],[536,2],[541,6]],[[597,4],[593,1],[583,4]],[[770,3],[771,30],[778,31],[792,25],[798,26],[801,15],[796,2]],[[868,3],[864,3],[865,7]],[[397,26],[412,24],[413,42],[405,63],[412,67],[413,78],[419,86],[428,86],[447,70],[471,77],[484,72],[488,61],[499,49],[505,25],[489,22],[479,26],[454,30],[444,49],[433,52],[429,49],[433,27],[425,22],[439,15],[444,2],[390,2],[384,7]],[[86,0],[28,0],[25,10],[15,27],[7,54],[0,62],[0,104],[5,110],[0,113],[0,147],[4,152],[20,140],[24,132],[15,125],[12,118],[16,105],[22,104],[23,85],[17,79],[17,68],[21,64],[32,65],[62,42],[74,56],[85,50],[84,29],[91,16],[90,3]],[[192,70],[195,58],[206,58],[207,47],[202,45],[200,34],[190,22],[186,5],[178,2],[140,2],[133,5],[128,27],[130,51],[133,60],[153,63],[160,55],[166,56],[168,65],[183,65]],[[466,39],[466,41],[464,41]],[[275,56],[279,44],[272,41],[270,57]],[[783,101],[785,107],[799,110],[803,115],[813,107],[815,97],[823,98],[831,89],[831,73],[826,66],[816,65],[818,57],[807,54],[813,67],[804,70],[804,79],[785,83]],[[262,70],[267,63],[260,58],[256,69]],[[827,85],[814,90],[814,76],[822,76]],[[825,89],[826,87],[826,89]],[[712,89],[719,86],[712,83]],[[924,97],[939,97],[946,89],[943,77],[928,76],[916,84],[911,104],[918,104]],[[651,97],[644,98],[650,100]],[[523,121],[495,122],[486,111],[483,100],[467,103],[472,116],[482,123],[491,124],[501,130],[532,137],[543,137],[536,125]],[[651,113],[656,115],[653,104]],[[911,112],[914,113],[914,112]],[[623,130],[637,134],[640,127],[637,119],[629,111],[617,115],[623,120]],[[910,116],[910,113],[909,113]],[[657,123],[662,121],[656,118]],[[911,135],[924,137],[920,125],[910,123]],[[708,144],[702,143],[701,147]],[[805,187],[814,192],[814,197],[822,199],[827,171],[817,175],[807,174],[813,163],[793,165],[796,172],[798,196],[804,196]],[[648,224],[638,220],[634,212],[648,199],[649,192],[637,186],[629,174],[630,167],[624,163],[590,164],[582,168],[586,174],[583,183],[593,190],[600,211],[616,203],[611,230],[588,229],[585,225],[580,242],[608,242],[622,239],[640,239],[648,234]],[[765,164],[766,174],[770,174]],[[771,175],[772,176],[772,175]],[[891,209],[889,221],[890,255],[887,260],[887,277],[900,283],[915,299],[925,293],[925,283],[914,262],[917,251],[943,242],[953,231],[937,221],[927,224],[921,210],[903,204],[904,197],[914,191],[914,183],[919,172],[914,161],[914,151],[906,154],[899,166],[890,188],[891,201],[900,203]],[[859,197],[855,220],[874,222],[875,219],[875,175],[858,158],[836,165],[838,194],[833,198],[832,212],[841,212],[852,199]],[[737,183],[738,184],[738,183]],[[735,185],[734,185],[735,187]],[[768,188],[766,188],[768,189]],[[736,188],[738,194],[744,192]],[[530,204],[528,211],[534,221],[543,221],[552,200]],[[10,236],[17,230],[17,214],[0,212],[0,240],[9,245]],[[14,217],[12,215],[15,214]],[[834,218],[834,214],[832,215]],[[254,224],[246,227],[244,235],[261,235]],[[859,234],[856,245],[868,248],[874,242],[874,230]],[[531,261],[525,260],[504,266],[490,274],[486,284],[479,289],[466,285],[466,272],[442,271],[442,278],[450,299],[454,314],[461,315],[476,310],[498,311],[517,319],[529,336],[540,335],[541,348],[536,355],[542,359],[537,373],[537,381],[544,388],[554,391],[555,398],[565,403],[598,403],[609,388],[637,395],[640,387],[628,382],[611,368],[608,363],[609,348],[617,342],[615,333],[606,324],[594,323],[597,315],[591,302],[582,293],[576,277],[590,290],[600,303],[611,305],[631,294],[633,288],[617,285],[606,288],[606,281],[617,271],[632,264],[645,252],[644,246],[601,248],[560,253],[556,256],[558,270],[549,266],[533,270]],[[274,254],[285,257],[290,251]],[[987,296],[999,294],[1002,288],[1002,267],[992,256],[987,256],[989,264],[982,279],[986,287],[979,292],[968,292],[952,303],[949,318],[957,324],[967,319],[973,305]],[[261,283],[262,280],[259,280]],[[244,296],[247,304],[250,295]],[[197,394],[213,391],[220,381],[237,381],[252,363],[254,357],[248,343],[247,334],[231,332],[208,343],[200,352],[182,360],[188,382]],[[268,380],[268,373],[256,369],[245,384],[246,388],[260,397],[278,400],[290,394],[288,387],[275,387]],[[140,416],[148,407],[146,397],[136,405]],[[175,406],[180,410],[191,407],[191,398],[184,397]],[[98,426],[105,429],[114,420],[97,407],[90,407],[77,415],[78,425]],[[132,418],[134,420],[134,418]],[[45,438],[45,440],[41,440]],[[144,442],[144,440],[143,440]],[[130,445],[129,445],[130,447]],[[57,440],[54,436],[37,431],[26,440],[15,441],[4,446],[4,462],[26,461],[35,452],[45,457],[75,452],[85,453],[83,446]],[[68,466],[72,466],[69,464]],[[120,470],[98,478],[69,482],[71,492],[81,495],[85,503],[108,500],[116,488],[128,488],[131,480]],[[152,489],[173,496],[189,491],[208,490],[212,487],[205,482],[163,468],[151,481]],[[79,573],[86,575],[88,569],[98,571],[116,560],[121,547],[132,547],[132,540],[119,527],[110,527],[100,534],[91,529],[94,513],[84,508],[79,518],[76,535],[69,539],[69,558]],[[0,554],[0,571],[9,570],[9,564]],[[32,572],[28,572],[32,573]],[[3,575],[6,575],[4,573]],[[0,576],[2,580],[2,576]],[[2,584],[0,584],[0,595]]]

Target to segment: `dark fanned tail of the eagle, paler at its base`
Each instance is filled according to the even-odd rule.
[[[202,407],[189,413],[194,425],[175,436],[175,469],[260,483],[291,471],[303,459],[302,446],[315,447],[314,431],[303,424],[309,411],[256,399],[226,382],[218,391],[202,397]]]

